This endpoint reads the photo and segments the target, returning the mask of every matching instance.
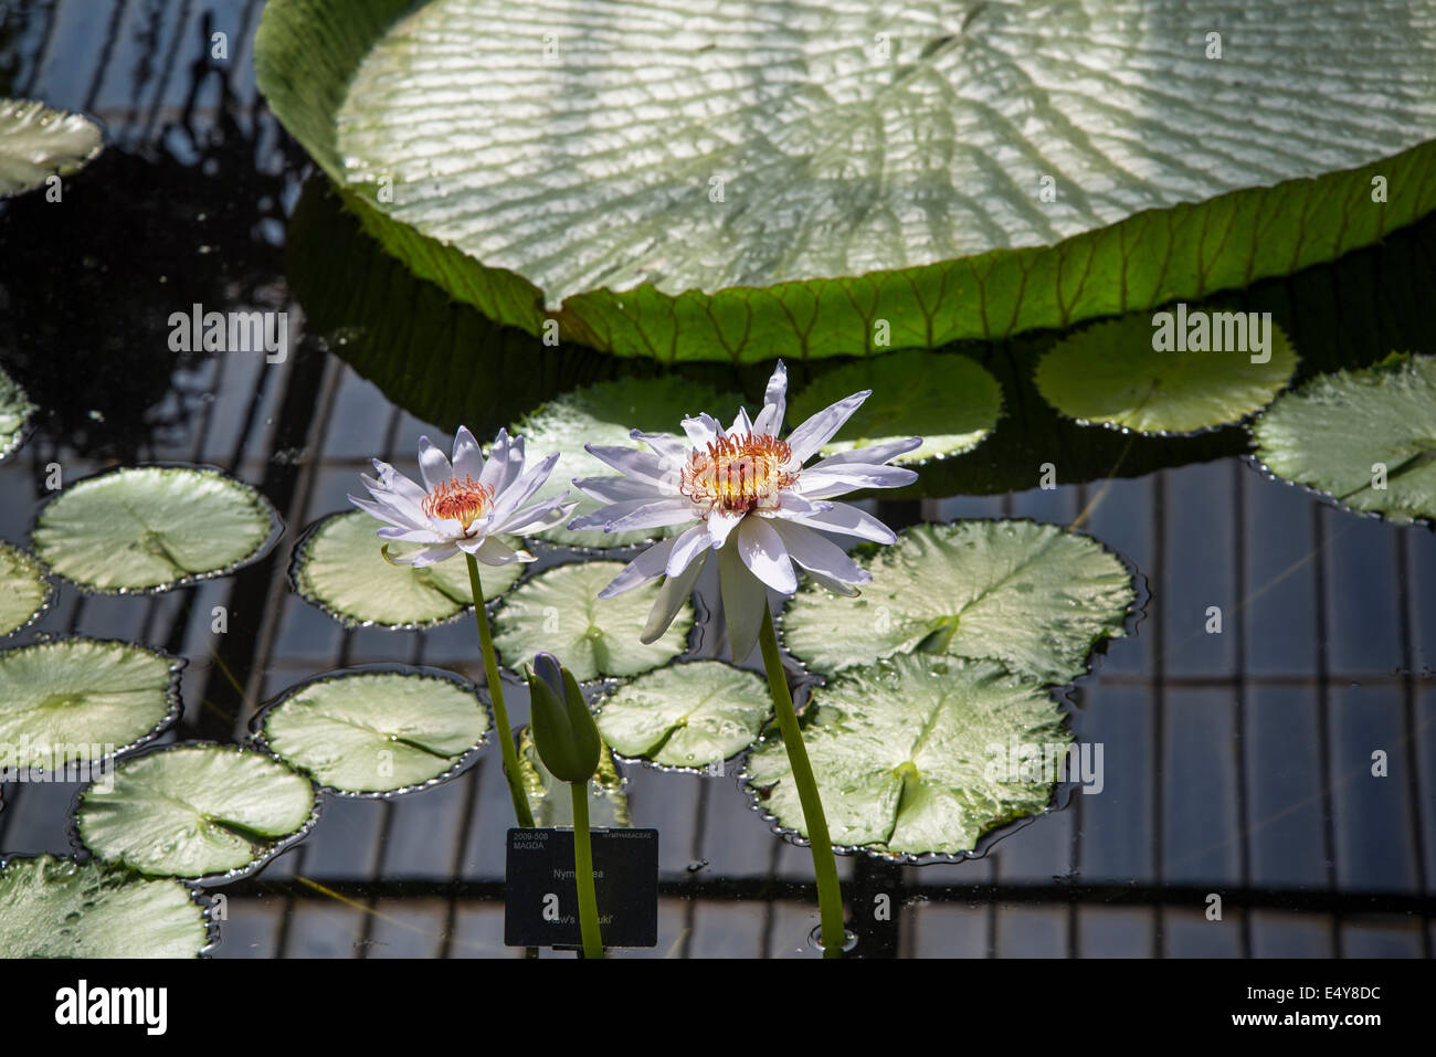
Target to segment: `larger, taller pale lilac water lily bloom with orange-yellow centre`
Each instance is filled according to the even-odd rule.
[[[892,543],[896,536],[877,518],[831,498],[857,488],[898,488],[918,474],[886,465],[918,448],[920,437],[844,451],[804,467],[827,444],[872,391],[813,415],[778,439],[787,405],[788,373],[778,362],[755,419],[740,411],[729,429],[711,415],[684,419],[681,439],[671,434],[630,437],[648,445],[586,445],[623,477],[586,477],[573,484],[609,506],[579,517],[570,528],[626,531],[696,521],[673,539],[656,543],[619,573],[599,597],[613,597],[661,576],[668,579],[643,629],[653,642],[672,623],[692,593],[709,554],[717,553],[728,639],[734,658],[745,658],[758,638],[765,587],[797,590],[797,569],[830,590],[856,595],[872,576],[823,533]]]

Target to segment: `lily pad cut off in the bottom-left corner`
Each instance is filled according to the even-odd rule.
[[[194,889],[42,855],[0,865],[0,958],[195,958],[210,922]]]

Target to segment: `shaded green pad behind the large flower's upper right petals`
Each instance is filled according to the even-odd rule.
[[[900,437],[922,447],[895,462],[925,462],[972,451],[1002,416],[1002,386],[976,360],[938,352],[896,352],[830,371],[793,398],[788,421],[801,422],[854,392],[872,389],[823,454]]]

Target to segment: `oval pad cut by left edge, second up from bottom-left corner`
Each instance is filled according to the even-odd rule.
[[[98,764],[180,718],[182,661],[131,642],[59,639],[0,653],[0,765],[29,745],[55,770]]]

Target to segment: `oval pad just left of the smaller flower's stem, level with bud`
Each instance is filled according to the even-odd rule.
[[[340,793],[395,793],[457,774],[488,732],[472,686],[419,672],[342,672],[287,691],[260,732]]]

